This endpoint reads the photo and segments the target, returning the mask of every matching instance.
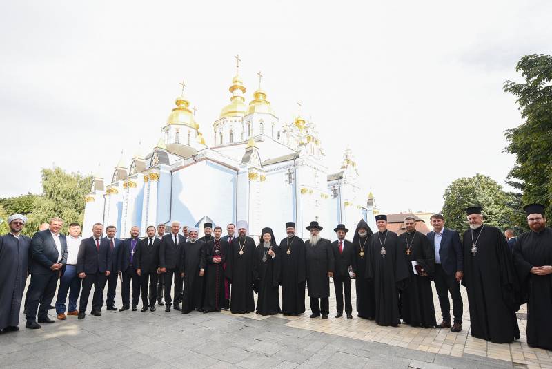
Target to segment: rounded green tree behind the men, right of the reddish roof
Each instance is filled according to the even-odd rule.
[[[522,231],[526,223],[520,220],[520,195],[505,192],[502,186],[489,176],[476,174],[472,178],[463,177],[453,180],[443,195],[442,214],[446,227],[462,234],[468,223],[464,209],[472,205],[481,205],[485,223],[504,230],[506,228]],[[521,218],[523,219],[523,218]],[[521,223],[521,224],[520,224]]]

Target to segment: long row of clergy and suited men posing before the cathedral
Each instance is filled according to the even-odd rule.
[[[119,240],[114,226],[108,226],[103,236],[99,223],[92,227],[90,238],[81,238],[77,223],[70,224],[68,236],[63,236],[59,233],[62,220],[52,218],[48,229],[31,239],[21,234],[26,217],[15,214],[8,218],[10,232],[0,236],[0,328],[19,330],[28,273],[26,327],[35,329],[41,328],[39,323],[55,322],[48,317],[48,309],[58,280],[55,309],[60,320],[66,315],[85,318],[92,286],[90,314],[101,315],[105,285],[108,310],[135,311],[141,295],[142,312],[155,311],[157,301],[166,312],[174,308],[182,314],[230,309],[235,314],[297,316],[306,311],[307,290],[310,317],[327,319],[333,278],[336,318],[344,313],[347,319],[353,317],[351,281],[355,279],[360,318],[379,325],[396,327],[402,320],[416,327],[460,332],[461,282],[467,290],[473,337],[495,343],[519,339],[515,312],[528,303],[529,346],[552,350],[552,229],[546,227],[544,206],[532,204],[524,210],[531,231],[515,240],[513,250],[499,229],[484,224],[481,207],[466,209],[469,229],[462,240],[456,231],[444,227],[441,214],[431,216],[433,231],[427,235],[416,231],[412,216],[404,219],[406,231],[397,235],[387,229],[386,216],[377,215],[377,231],[373,233],[360,220],[352,242],[346,240],[344,225],[333,229],[337,240],[331,242],[320,236],[322,227],[313,221],[306,227],[306,241],[295,235],[295,223],[290,222],[279,244],[267,227],[258,245],[248,236],[245,221],[228,225],[226,236],[211,223],[204,224],[205,236],[199,238],[197,227],[185,226],[181,231],[180,224],[172,222],[167,234],[163,224],[149,226],[146,237],[140,239],[139,227],[132,227],[130,238]],[[122,281],[119,309],[115,307],[117,278]],[[442,312],[439,325],[431,281]]]

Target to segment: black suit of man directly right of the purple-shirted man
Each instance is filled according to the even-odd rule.
[[[155,306],[157,299],[157,268],[159,267],[159,246],[161,240],[153,237],[146,237],[140,241],[135,254],[136,269],[140,269],[140,283],[142,287],[142,305]],[[149,299],[148,299],[148,281],[149,281]]]

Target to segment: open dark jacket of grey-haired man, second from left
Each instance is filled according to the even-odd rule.
[[[67,240],[63,234],[59,235],[59,241],[61,243],[61,263],[66,265]],[[32,274],[50,274],[58,272],[57,270],[50,269],[50,267],[59,260],[57,247],[50,229],[35,233],[30,240],[30,247],[32,254],[30,269],[32,270]]]

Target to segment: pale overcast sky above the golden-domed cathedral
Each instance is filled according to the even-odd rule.
[[[144,4],[144,5],[143,5]],[[552,50],[550,1],[3,1],[0,197],[40,193],[42,168],[111,178],[157,144],[185,81],[208,144],[234,55],[262,71],[279,120],[317,123],[331,172],[347,144],[384,212],[440,211],[456,178],[504,185],[522,123],[506,79]],[[364,201],[364,200],[362,200]]]

